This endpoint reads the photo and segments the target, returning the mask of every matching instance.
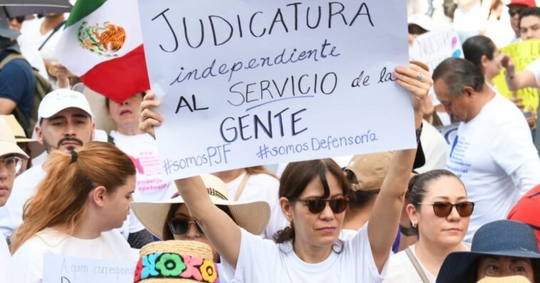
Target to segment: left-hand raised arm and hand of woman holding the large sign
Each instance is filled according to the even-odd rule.
[[[147,92],[140,104],[139,128],[152,137],[155,137],[154,127],[159,127],[163,122],[163,117],[152,110],[159,105],[160,102],[155,100],[153,92]],[[197,220],[204,235],[212,242],[219,255],[236,268],[242,237],[240,228],[229,215],[210,201],[202,178],[182,178],[175,183],[189,213]]]

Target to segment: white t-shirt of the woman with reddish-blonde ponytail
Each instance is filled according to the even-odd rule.
[[[83,240],[56,230],[45,230],[26,240],[12,258],[13,282],[39,283],[43,278],[43,255],[65,255],[95,260],[135,262],[138,252],[123,237],[113,231],[103,232],[100,237]]]

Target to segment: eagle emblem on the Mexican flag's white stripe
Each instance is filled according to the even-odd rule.
[[[91,52],[105,57],[118,57],[118,50],[125,43],[125,29],[105,21],[102,25],[88,25],[83,21],[78,28],[78,42]]]

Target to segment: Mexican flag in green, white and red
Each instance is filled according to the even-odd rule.
[[[77,0],[56,57],[115,102],[150,89],[137,0]]]

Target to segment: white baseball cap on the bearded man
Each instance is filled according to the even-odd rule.
[[[53,90],[43,97],[39,104],[38,122],[41,122],[42,118],[52,117],[54,114],[71,107],[84,110],[90,117],[94,117],[88,100],[81,92],[63,88]]]

